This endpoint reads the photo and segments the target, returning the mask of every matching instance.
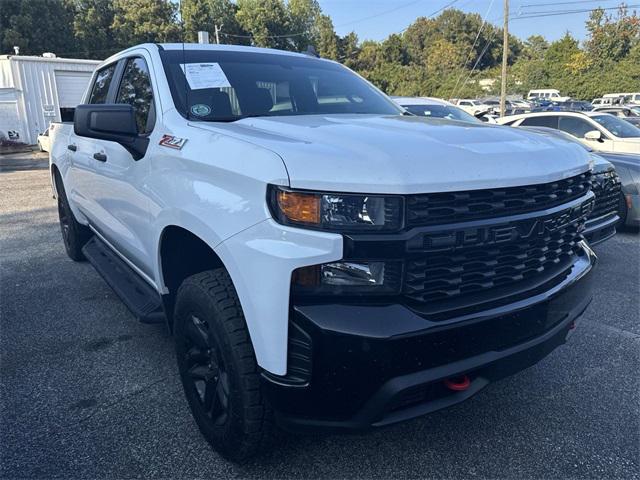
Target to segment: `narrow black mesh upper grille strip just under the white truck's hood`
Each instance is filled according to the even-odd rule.
[[[591,186],[585,172],[556,182],[523,187],[408,195],[407,226],[444,225],[553,208],[584,195]]]

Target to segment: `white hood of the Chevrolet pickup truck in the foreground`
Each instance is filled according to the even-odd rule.
[[[408,194],[530,185],[582,173],[590,160],[566,141],[424,117],[305,115],[197,126],[274,151],[290,186],[311,190]]]

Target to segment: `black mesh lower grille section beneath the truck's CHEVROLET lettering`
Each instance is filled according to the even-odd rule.
[[[532,239],[414,257],[405,267],[403,294],[423,304],[469,301],[478,294],[482,302],[504,288],[551,281],[573,263],[583,225],[580,221]]]

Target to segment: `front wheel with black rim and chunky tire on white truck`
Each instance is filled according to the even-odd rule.
[[[242,307],[224,269],[182,283],[174,334],[184,392],[205,439],[234,462],[258,453],[271,438],[272,413]]]

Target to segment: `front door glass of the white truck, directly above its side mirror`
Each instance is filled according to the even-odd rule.
[[[149,121],[153,106],[153,89],[149,69],[144,59],[136,57],[127,60],[116,103],[127,103],[133,106],[138,133],[145,134],[153,130],[152,121]]]

